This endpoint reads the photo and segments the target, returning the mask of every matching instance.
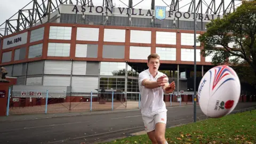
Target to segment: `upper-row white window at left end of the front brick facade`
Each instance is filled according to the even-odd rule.
[[[71,27],[50,27],[49,39],[71,39]]]

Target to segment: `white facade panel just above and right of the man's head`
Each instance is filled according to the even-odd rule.
[[[156,53],[161,60],[176,60],[176,49],[170,47],[156,47]]]

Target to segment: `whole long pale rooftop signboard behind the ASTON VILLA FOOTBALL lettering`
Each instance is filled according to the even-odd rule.
[[[166,6],[155,6],[155,10],[151,9],[129,9],[128,7],[107,7],[107,6],[96,6],[96,5],[61,5],[61,13],[78,13],[78,14],[104,14],[111,16],[115,14],[116,16],[121,15],[133,15],[136,18],[139,17],[153,17],[156,19],[164,20],[166,18],[179,18],[182,20],[194,19],[193,12],[180,12],[180,11],[166,11]],[[121,16],[122,17],[122,16]],[[220,14],[205,14],[196,13],[197,20],[210,21],[212,19],[222,18],[223,15]]]

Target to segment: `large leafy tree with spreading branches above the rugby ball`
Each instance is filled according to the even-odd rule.
[[[243,2],[223,18],[206,25],[206,33],[198,37],[204,46],[201,54],[212,56],[213,65],[241,66],[247,63],[256,76],[256,1]],[[229,58],[229,61],[227,60]]]

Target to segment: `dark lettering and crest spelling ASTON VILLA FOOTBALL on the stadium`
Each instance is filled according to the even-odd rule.
[[[134,8],[125,8],[125,7],[104,7],[104,6],[94,6],[94,5],[82,5],[80,9],[78,9],[77,5],[74,5],[72,12],[89,12],[89,13],[106,13],[113,14],[113,10],[115,9],[115,14],[127,14],[127,15],[141,15],[141,16],[155,16],[156,19],[163,20],[166,17],[169,18],[181,18],[181,19],[194,19],[194,13],[189,12],[179,12],[179,11],[166,11],[166,6],[155,6],[155,10],[142,10],[142,9],[134,9]],[[155,12],[155,13],[154,13]],[[202,14],[196,13],[196,18],[198,20],[212,20],[216,18],[220,18],[220,15],[215,16],[215,14]]]

